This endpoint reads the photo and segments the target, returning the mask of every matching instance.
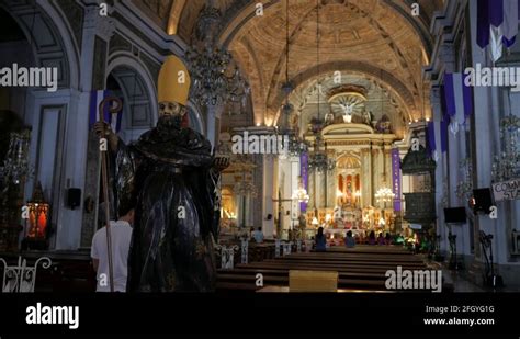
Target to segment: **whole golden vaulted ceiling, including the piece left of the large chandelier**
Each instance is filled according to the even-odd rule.
[[[134,1],[155,12],[168,33],[178,34],[188,44],[204,5],[218,8],[222,29],[214,34],[233,53],[251,84],[256,123],[274,124],[284,99],[286,25],[289,77],[296,89],[337,71],[344,75],[341,84],[358,75],[374,79],[392,93],[399,120],[428,115],[423,111],[428,84],[422,81],[422,67],[432,49],[431,18],[445,0]],[[263,5],[263,15],[257,15],[258,3]],[[414,3],[419,3],[419,15],[414,15]]]

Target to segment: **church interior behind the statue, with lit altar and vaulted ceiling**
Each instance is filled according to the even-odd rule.
[[[57,69],[56,91],[0,77],[0,270],[24,258],[36,291],[95,291],[113,196],[92,116],[112,95],[121,140],[154,128],[173,55],[191,78],[183,126],[229,160],[217,291],[298,291],[298,270],[310,289],[327,271],[332,291],[381,291],[397,265],[442,270],[448,291],[519,291],[520,91],[464,78],[519,67],[504,35],[519,18],[501,33],[508,12],[482,2],[0,0],[0,70]]]

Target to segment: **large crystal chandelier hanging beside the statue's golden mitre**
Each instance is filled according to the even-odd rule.
[[[206,7],[199,18],[192,45],[185,59],[192,78],[192,91],[201,105],[221,105],[241,102],[246,105],[249,83],[240,75],[229,52],[217,47],[214,35],[219,30],[221,12]]]

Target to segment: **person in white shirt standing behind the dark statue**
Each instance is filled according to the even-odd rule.
[[[110,222],[114,292],[126,292],[132,224],[134,224],[134,210],[128,211],[117,222]],[[106,226],[104,226],[98,229],[92,238],[90,257],[92,257],[92,263],[97,271],[98,286],[95,292],[110,292],[108,253]]]

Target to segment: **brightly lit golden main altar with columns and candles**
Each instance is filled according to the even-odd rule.
[[[374,120],[363,99],[351,90],[331,93],[330,113],[323,125],[307,127],[309,157],[321,154],[328,161],[320,168],[309,166],[307,235],[320,226],[331,237],[347,230],[368,234],[395,229],[393,191],[398,188],[392,182],[392,149],[402,137],[393,133],[386,115]],[[381,196],[382,188],[389,192],[387,196]]]

